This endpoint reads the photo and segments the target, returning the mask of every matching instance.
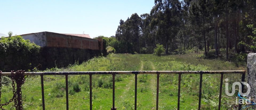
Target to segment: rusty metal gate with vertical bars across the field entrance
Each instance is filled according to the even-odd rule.
[[[137,109],[137,75],[138,74],[157,74],[157,96],[156,96],[156,110],[158,110],[158,97],[159,97],[159,75],[160,74],[178,74],[178,104],[177,108],[179,110],[180,106],[180,90],[181,90],[181,75],[182,74],[200,74],[200,85],[199,85],[199,102],[198,110],[201,109],[201,96],[202,96],[202,77],[203,74],[221,74],[220,82],[220,91],[219,91],[219,105],[218,110],[221,109],[221,94],[222,94],[222,85],[223,85],[223,74],[242,74],[241,81],[245,81],[245,72],[246,71],[95,71],[95,72],[25,72],[24,76],[27,75],[40,75],[41,76],[41,86],[42,86],[42,106],[45,110],[45,98],[44,98],[44,87],[43,87],[43,76],[44,75],[65,75],[66,80],[66,109],[69,109],[69,100],[68,100],[68,75],[89,75],[90,76],[90,110],[92,109],[92,75],[97,74],[111,74],[113,76],[113,104],[111,110],[116,110],[115,108],[115,74],[135,74],[135,110]],[[2,76],[11,76],[9,72],[3,72]],[[242,92],[244,85],[242,85]],[[241,109],[242,104],[239,105]]]

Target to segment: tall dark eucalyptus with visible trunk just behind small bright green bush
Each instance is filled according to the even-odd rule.
[[[165,42],[167,54],[168,42],[175,38],[181,24],[181,3],[179,0],[155,0],[152,10],[158,19],[157,35]]]

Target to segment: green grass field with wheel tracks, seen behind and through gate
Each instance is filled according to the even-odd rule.
[[[198,59],[195,55],[152,54],[110,54],[106,57],[93,58],[82,64],[65,68],[51,68],[45,71],[225,71],[245,70],[245,65],[230,63],[220,59]],[[224,79],[240,81],[240,74],[225,74]],[[70,75],[69,108],[89,109],[89,75]],[[156,75],[138,75],[137,107],[139,110],[151,110],[156,106]],[[112,76],[93,75],[93,109],[110,110],[112,107]],[[159,109],[176,110],[178,94],[178,75],[160,74]],[[118,110],[134,109],[134,75],[116,75],[115,107]],[[204,110],[214,110],[218,106],[220,74],[203,75],[202,106]],[[222,109],[234,106],[235,96],[226,97],[223,85]],[[2,87],[1,103],[11,98],[11,85]],[[44,76],[46,109],[66,109],[65,76]],[[198,108],[199,75],[183,74],[181,80],[182,110]],[[24,109],[42,109],[40,76],[27,76],[22,85]],[[13,103],[4,107],[13,109]]]

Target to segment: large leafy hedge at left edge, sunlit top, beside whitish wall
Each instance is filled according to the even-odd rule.
[[[40,46],[23,39],[11,36],[0,40],[0,70],[28,70],[38,65]],[[2,66],[2,64],[6,66]]]

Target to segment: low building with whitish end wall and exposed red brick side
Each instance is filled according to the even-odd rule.
[[[38,32],[20,35],[41,47],[63,47],[75,49],[99,50],[99,41],[91,39],[88,34],[60,34]]]

